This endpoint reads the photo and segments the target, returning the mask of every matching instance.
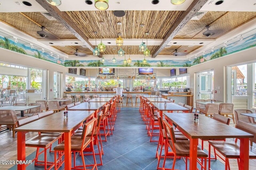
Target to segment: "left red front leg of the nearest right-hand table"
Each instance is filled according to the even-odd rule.
[[[197,164],[197,139],[190,139],[189,169],[196,170]]]

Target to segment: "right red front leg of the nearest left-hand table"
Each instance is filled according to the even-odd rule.
[[[71,169],[71,132],[64,133],[65,170]],[[74,155],[75,156],[75,155]]]

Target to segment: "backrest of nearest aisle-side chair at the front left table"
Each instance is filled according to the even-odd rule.
[[[93,131],[96,127],[96,118],[92,118],[90,121],[88,121],[87,123],[84,124],[84,128],[83,128],[83,132],[82,132],[82,136],[81,138],[83,139],[83,142],[82,142],[82,146],[81,146],[81,149],[83,150],[86,144],[87,141],[85,141],[85,138],[88,136],[88,134],[93,134]],[[91,135],[90,137],[91,141],[93,139],[93,135]]]

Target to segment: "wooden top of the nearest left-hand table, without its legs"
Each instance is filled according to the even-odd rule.
[[[64,111],[60,111],[21,127],[17,127],[14,131],[72,132],[74,128],[92,115],[94,115],[94,111],[68,111],[68,119],[64,119]]]

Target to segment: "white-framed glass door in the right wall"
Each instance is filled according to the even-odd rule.
[[[212,99],[212,73],[198,73],[196,82],[196,99]]]

